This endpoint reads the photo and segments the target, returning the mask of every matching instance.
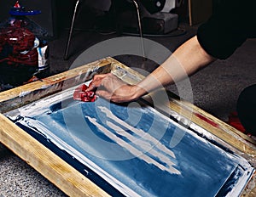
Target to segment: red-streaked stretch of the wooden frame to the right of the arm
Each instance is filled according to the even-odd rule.
[[[204,128],[207,132],[229,144],[231,148],[235,148],[235,153],[244,157],[254,168],[256,167],[256,146],[255,141],[247,135],[231,127],[224,121],[219,120],[215,116],[201,110],[194,104],[172,98],[170,108],[178,114],[189,118],[196,125]],[[234,150],[234,149],[232,149]],[[238,151],[236,151],[238,150]],[[256,194],[256,172],[253,172],[253,177],[247,183],[247,186],[241,192],[243,197],[253,197]]]

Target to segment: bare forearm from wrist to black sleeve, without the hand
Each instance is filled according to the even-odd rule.
[[[192,37],[134,87],[137,94],[135,97],[140,97],[156,88],[179,82],[207,66],[213,60],[214,58],[201,48],[197,37]]]

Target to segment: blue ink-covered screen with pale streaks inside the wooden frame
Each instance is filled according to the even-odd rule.
[[[16,123],[43,133],[124,195],[239,194],[253,168],[243,158],[179,126],[144,104],[65,102]],[[185,132],[170,148],[174,132]],[[88,169],[87,169],[88,170]]]

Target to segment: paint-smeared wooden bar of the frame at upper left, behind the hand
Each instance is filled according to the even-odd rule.
[[[47,95],[78,85],[89,80],[96,72],[108,73],[111,69],[110,65],[111,59],[100,59],[55,76],[4,91],[0,93],[0,113],[15,110]]]

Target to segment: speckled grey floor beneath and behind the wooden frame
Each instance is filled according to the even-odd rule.
[[[180,25],[187,33],[180,37],[148,37],[172,52],[182,42],[195,35],[196,26]],[[117,37],[116,34],[75,31],[70,47],[70,58],[63,60],[67,42],[67,31],[49,42],[51,74],[70,69],[73,61],[87,48],[98,42]],[[236,110],[236,99],[244,87],[256,83],[256,40],[245,42],[236,53],[226,60],[218,60],[206,69],[190,77],[194,104],[217,116],[228,120],[230,112]],[[140,59],[131,55],[121,55],[117,59],[125,65],[140,67]],[[152,71],[155,64],[148,61],[144,69]],[[168,87],[175,92],[175,86]],[[20,160],[2,144],[0,145],[0,196],[65,196],[52,183]]]

